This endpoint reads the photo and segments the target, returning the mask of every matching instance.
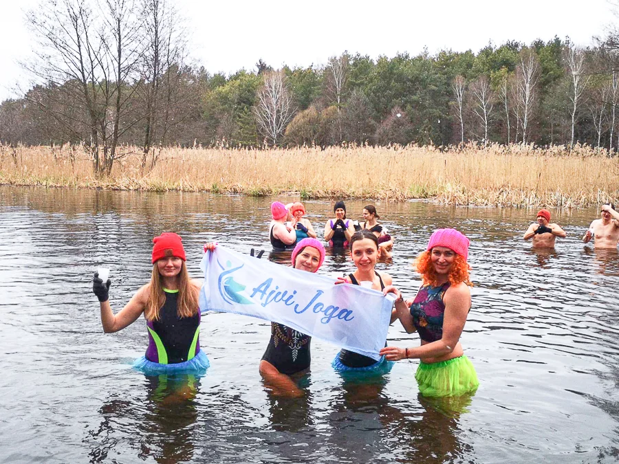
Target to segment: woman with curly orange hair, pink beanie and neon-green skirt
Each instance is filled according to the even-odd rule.
[[[384,289],[398,297],[395,309],[407,333],[419,332],[421,346],[387,346],[380,351],[388,360],[420,360],[415,379],[426,397],[475,393],[479,380],[464,355],[460,335],[470,311],[468,277],[469,240],[455,229],[439,229],[415,262],[422,287],[414,300],[404,301],[393,286]]]

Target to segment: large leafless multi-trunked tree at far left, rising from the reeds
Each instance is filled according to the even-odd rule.
[[[85,129],[95,172],[109,174],[129,109],[122,89],[135,63],[131,1],[107,0],[96,10],[89,0],[41,2],[28,24],[40,46],[25,67],[57,90],[52,100],[39,98],[41,92],[28,95],[59,124],[77,133]]]

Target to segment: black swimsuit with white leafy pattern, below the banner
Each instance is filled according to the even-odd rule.
[[[312,337],[284,324],[271,322],[271,339],[262,359],[282,374],[291,375],[310,367]]]

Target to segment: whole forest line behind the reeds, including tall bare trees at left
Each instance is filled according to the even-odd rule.
[[[0,104],[0,142],[83,144],[98,173],[122,146],[586,143],[619,146],[619,47],[569,39],[210,74],[168,0],[59,0],[28,14],[36,85]]]

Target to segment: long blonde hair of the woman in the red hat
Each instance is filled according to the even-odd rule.
[[[191,318],[195,316],[198,308],[198,292],[193,285],[187,272],[185,262],[182,262],[181,270],[177,276],[178,279],[178,304],[176,313],[180,318]],[[166,301],[163,287],[161,285],[161,274],[157,263],[153,265],[153,274],[149,290],[149,300],[146,302],[144,316],[147,320],[159,320],[159,312]]]

